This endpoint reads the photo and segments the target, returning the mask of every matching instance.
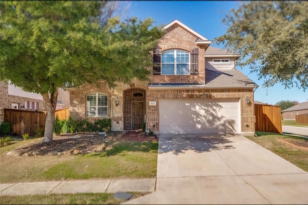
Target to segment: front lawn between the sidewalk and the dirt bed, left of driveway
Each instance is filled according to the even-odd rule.
[[[31,141],[18,143],[24,146]],[[158,142],[118,142],[103,152],[77,155],[69,152],[60,155],[46,153],[48,147],[42,151],[42,155],[6,155],[8,151],[17,147],[18,144],[14,143],[0,148],[1,183],[156,176]]]

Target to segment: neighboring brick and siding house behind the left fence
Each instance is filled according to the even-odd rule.
[[[58,88],[57,108],[70,107],[69,91]],[[23,91],[9,82],[0,81],[0,123],[4,120],[4,108],[43,111],[44,100],[38,93]]]

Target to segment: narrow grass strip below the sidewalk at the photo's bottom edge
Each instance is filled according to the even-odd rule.
[[[133,193],[136,198],[140,193]],[[109,193],[50,194],[26,196],[1,196],[0,204],[119,204],[124,200],[115,199]]]

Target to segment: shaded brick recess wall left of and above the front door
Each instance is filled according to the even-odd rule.
[[[133,93],[141,92],[143,96],[133,96]],[[145,102],[145,90],[140,88],[132,88],[123,91],[124,103],[123,103],[123,120],[124,130],[132,129],[132,103],[136,101]]]

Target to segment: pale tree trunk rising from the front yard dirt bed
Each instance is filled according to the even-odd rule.
[[[47,110],[43,142],[51,142],[55,124],[55,110],[57,106],[58,92],[51,92],[50,97],[48,93],[45,93],[42,96]]]

